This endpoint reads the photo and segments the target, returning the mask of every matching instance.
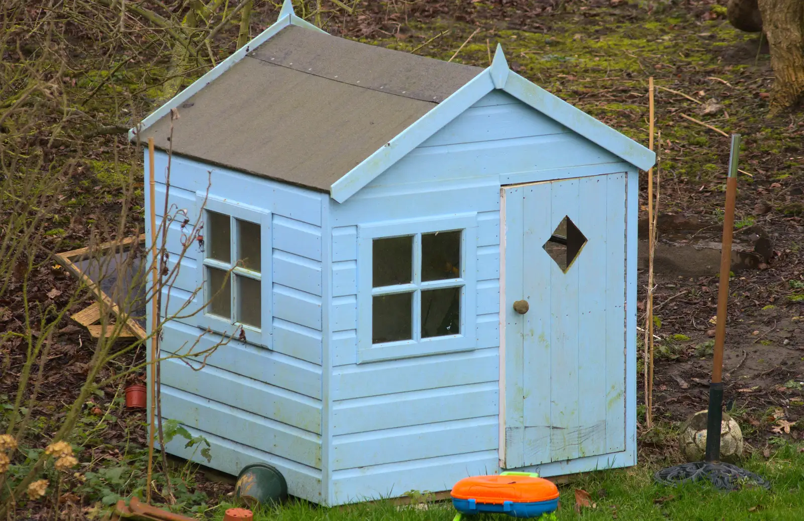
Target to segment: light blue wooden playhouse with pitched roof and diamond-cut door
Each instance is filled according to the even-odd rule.
[[[288,0],[129,137],[155,140],[157,215],[167,150],[169,203],[203,212],[165,313],[209,305],[162,350],[246,334],[200,371],[162,363],[162,415],[212,458],[168,452],[229,474],[266,462],[327,505],[636,462],[638,170],[654,154],[499,47],[486,69],[373,47]]]

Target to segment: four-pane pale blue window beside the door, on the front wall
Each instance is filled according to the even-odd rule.
[[[358,227],[358,361],[477,343],[475,214]]]

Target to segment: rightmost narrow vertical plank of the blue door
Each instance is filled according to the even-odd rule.
[[[613,453],[626,449],[626,174],[606,177],[605,199],[605,452]]]

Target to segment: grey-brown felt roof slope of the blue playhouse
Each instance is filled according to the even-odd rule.
[[[172,150],[329,192],[483,70],[289,25],[178,105]],[[167,113],[141,139],[169,136]]]

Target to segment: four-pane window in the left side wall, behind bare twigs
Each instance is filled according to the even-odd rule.
[[[201,300],[199,326],[271,345],[271,214],[214,198],[204,201],[203,251],[197,260]],[[268,252],[268,253],[266,253]],[[239,334],[236,335],[239,337]]]

